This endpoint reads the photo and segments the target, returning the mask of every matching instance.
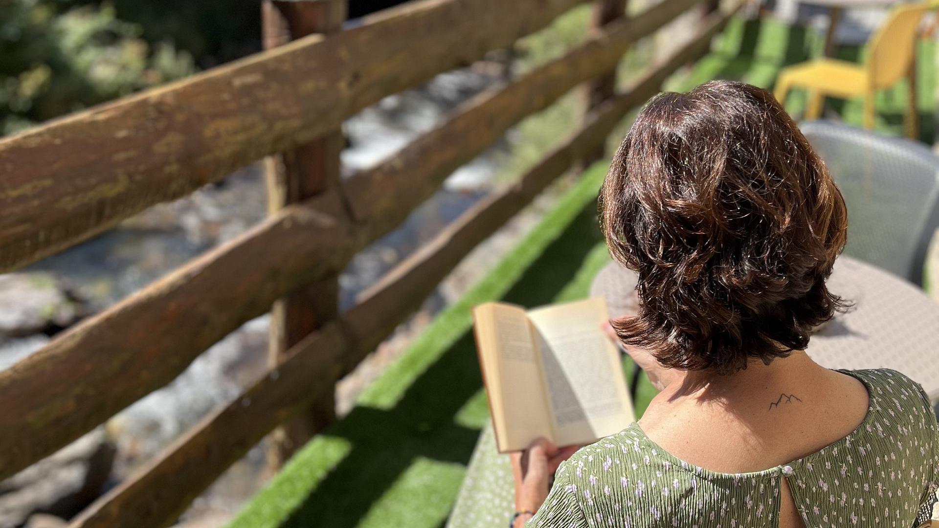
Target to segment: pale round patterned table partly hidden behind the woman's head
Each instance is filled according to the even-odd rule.
[[[830,290],[854,302],[811,336],[808,355],[829,368],[895,368],[939,399],[939,303],[918,287],[849,256],[839,256]],[[592,295],[607,299],[610,317],[636,313],[636,275],[610,262]]]

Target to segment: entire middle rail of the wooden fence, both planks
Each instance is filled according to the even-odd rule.
[[[0,431],[21,431],[0,435],[0,477],[173,380],[209,346],[266,313],[274,300],[341,271],[518,120],[604,74],[632,42],[699,1],[668,0],[608,24],[562,57],[469,101],[388,162],[347,181],[345,196],[333,189],[285,208],[0,371],[0,401],[7,402]],[[75,373],[82,375],[75,379]]]

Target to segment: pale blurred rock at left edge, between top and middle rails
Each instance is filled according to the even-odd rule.
[[[85,305],[50,273],[0,275],[0,337],[54,334],[85,311]]]

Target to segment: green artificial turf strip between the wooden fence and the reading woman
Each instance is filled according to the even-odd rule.
[[[606,165],[591,167],[531,234],[448,307],[365,391],[346,418],[307,444],[233,527],[440,526],[488,420],[469,309],[587,295],[608,260],[595,196]],[[639,405],[652,396],[643,385]]]

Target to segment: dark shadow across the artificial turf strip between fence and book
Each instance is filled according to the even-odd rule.
[[[530,307],[550,303],[598,241],[592,202],[502,300]],[[466,464],[479,430],[455,424],[454,415],[481,387],[470,331],[415,380],[392,409],[357,406],[325,432],[346,439],[352,450],[281,526],[356,526],[415,458]]]

